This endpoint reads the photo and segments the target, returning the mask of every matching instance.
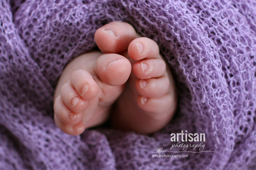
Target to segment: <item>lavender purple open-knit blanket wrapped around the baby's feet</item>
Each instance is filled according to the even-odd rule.
[[[2,0],[0,169],[256,169],[255,11],[254,0]],[[149,136],[67,135],[53,120],[58,77],[111,21],[159,44],[176,116]],[[204,133],[204,148],[171,141],[181,131]]]

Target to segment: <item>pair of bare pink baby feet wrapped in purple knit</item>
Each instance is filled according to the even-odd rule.
[[[110,119],[120,130],[150,134],[172,119],[175,84],[159,47],[125,22],[95,32],[100,51],[72,60],[56,86],[54,119],[65,133],[80,135]]]

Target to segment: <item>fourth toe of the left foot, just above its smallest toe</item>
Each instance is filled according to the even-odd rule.
[[[68,109],[60,95],[54,102],[54,113],[58,120],[65,124],[75,125],[82,119],[81,113],[75,113]]]

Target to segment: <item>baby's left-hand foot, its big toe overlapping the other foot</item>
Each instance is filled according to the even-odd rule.
[[[79,135],[104,122],[130,73],[131,63],[118,54],[90,52],[74,59],[55,91],[56,125],[67,134]]]

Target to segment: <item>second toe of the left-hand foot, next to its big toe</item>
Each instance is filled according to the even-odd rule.
[[[84,100],[91,100],[99,93],[99,87],[91,74],[86,70],[76,70],[72,73],[70,82],[78,95]]]

